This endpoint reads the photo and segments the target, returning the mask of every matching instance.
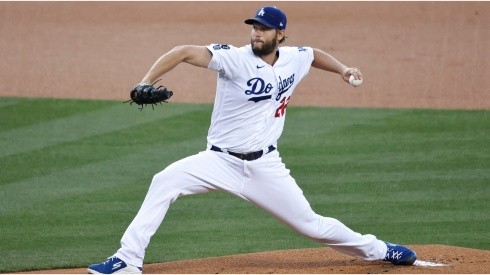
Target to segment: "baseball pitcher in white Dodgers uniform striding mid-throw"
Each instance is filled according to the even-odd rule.
[[[339,74],[354,86],[362,82],[360,70],[316,48],[279,46],[286,39],[287,20],[276,7],[259,8],[245,23],[252,27],[249,45],[175,47],[131,91],[132,102],[142,107],[169,99],[172,92],[153,84],[180,63],[218,75],[206,150],[153,177],[139,212],[122,236],[121,247],[105,262],[90,265],[89,273],[141,273],[146,247],[170,205],[180,196],[210,191],[234,194],[342,253],[398,265],[415,262],[415,252],[407,247],[359,234],[334,218],[315,213],[279,153],[277,141],[288,103],[309,70]]]

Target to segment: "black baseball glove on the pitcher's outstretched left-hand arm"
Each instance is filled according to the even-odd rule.
[[[156,105],[158,103],[161,104],[162,102],[166,103],[167,99],[172,97],[174,93],[167,90],[167,88],[163,86],[155,88],[153,86],[155,83],[140,83],[134,86],[134,88],[129,93],[131,99],[126,102],[129,102],[129,104],[138,104],[140,106],[140,110],[143,110],[143,108],[148,104],[150,104],[151,108],[154,109],[153,105]]]

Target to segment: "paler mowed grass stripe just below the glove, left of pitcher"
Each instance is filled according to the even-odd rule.
[[[181,105],[180,108],[165,108],[164,110],[152,111],[145,110],[140,112],[136,106],[115,103],[105,106],[102,109],[92,110],[93,105],[99,105],[97,101],[86,101],[82,106],[88,106],[85,112],[80,114],[70,114],[69,116],[56,117],[58,104],[52,102],[52,109],[43,106],[40,110],[30,109],[34,106],[24,106],[27,112],[24,116],[36,117],[36,114],[51,113],[51,119],[40,120],[37,123],[29,124],[24,127],[1,130],[0,142],[8,146],[2,146],[0,158],[14,154],[29,152],[36,149],[55,146],[64,142],[77,141],[86,137],[102,135],[104,133],[127,129],[135,125],[152,122],[159,119],[172,120],[174,116],[182,115],[190,111],[209,109],[205,105]],[[69,102],[69,101],[66,101]],[[71,102],[73,104],[73,102]],[[39,104],[47,105],[48,102]],[[22,106],[18,106],[21,108]],[[29,107],[29,108],[28,108]],[[65,114],[62,108],[61,114]],[[0,115],[13,117],[6,110],[2,110]],[[29,115],[30,114],[30,115]],[[2,129],[2,128],[0,128]],[[147,129],[150,130],[150,129]]]

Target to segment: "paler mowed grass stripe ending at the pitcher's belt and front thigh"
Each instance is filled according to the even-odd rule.
[[[190,148],[192,152],[182,148]],[[148,186],[152,175],[163,169],[164,165],[183,158],[182,153],[192,154],[198,148],[204,150],[205,146],[201,139],[196,138],[180,144],[172,144],[166,150],[146,148],[119,158],[93,162],[58,172],[52,171],[45,176],[4,184],[0,189],[2,206],[0,214],[30,211],[43,201],[102,188],[118,188],[120,184],[128,182]],[[103,197],[101,193],[101,198]]]

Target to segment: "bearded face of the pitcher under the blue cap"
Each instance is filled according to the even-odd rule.
[[[277,48],[279,32],[260,23],[254,23],[250,45],[257,56],[273,53]]]

